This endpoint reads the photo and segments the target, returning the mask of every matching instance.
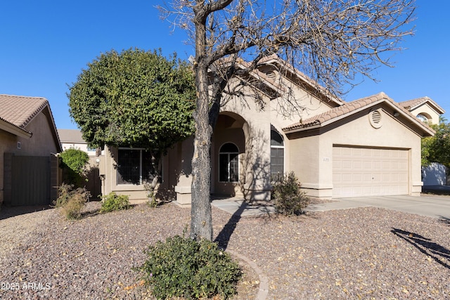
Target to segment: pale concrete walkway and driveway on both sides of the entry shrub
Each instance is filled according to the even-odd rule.
[[[242,198],[214,199],[212,206],[238,216],[264,216],[273,214],[275,208],[271,202],[248,204]],[[307,211],[328,211],[333,209],[352,209],[356,207],[382,207],[420,214],[439,219],[450,219],[450,196],[426,195],[413,196],[379,196],[341,198],[332,202],[311,204]]]

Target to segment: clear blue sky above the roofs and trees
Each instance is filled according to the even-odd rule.
[[[39,96],[50,102],[58,129],[75,129],[68,112],[67,84],[100,53],[131,47],[176,51],[187,59],[193,48],[181,31],[160,20],[156,0],[0,1],[0,93]],[[384,91],[395,101],[428,96],[450,121],[450,1],[418,0],[416,34],[394,57],[350,91],[350,101]]]

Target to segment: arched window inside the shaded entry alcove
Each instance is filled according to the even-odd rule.
[[[239,181],[239,150],[233,143],[226,143],[219,151],[219,181]]]

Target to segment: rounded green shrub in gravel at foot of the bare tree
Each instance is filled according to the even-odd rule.
[[[236,294],[242,270],[229,254],[208,240],[188,237],[167,238],[148,247],[148,259],[139,268],[157,299],[183,296],[187,299],[223,299]]]

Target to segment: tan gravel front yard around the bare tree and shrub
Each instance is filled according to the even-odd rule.
[[[131,268],[148,244],[181,234],[190,209],[96,209],[79,221],[53,209],[0,214],[0,299],[148,298]],[[371,207],[293,218],[212,209],[220,244],[269,278],[268,299],[450,299],[449,220]],[[243,266],[235,299],[255,299],[257,275]]]

